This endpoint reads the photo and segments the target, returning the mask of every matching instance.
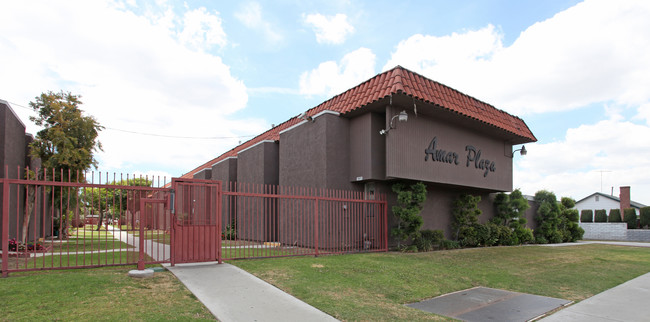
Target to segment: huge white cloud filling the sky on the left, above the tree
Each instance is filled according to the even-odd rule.
[[[224,43],[216,13],[138,16],[99,1],[2,2],[0,11],[12,13],[0,20],[2,99],[27,105],[43,91],[63,89],[82,95],[82,109],[102,125],[144,133],[233,137],[265,128],[260,120],[227,118],[246,106],[246,87],[220,57],[197,48]],[[193,19],[209,23],[197,29]],[[191,169],[238,139],[169,139],[106,129],[100,141],[104,170],[147,172]]]

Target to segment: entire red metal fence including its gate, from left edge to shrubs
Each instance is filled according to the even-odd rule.
[[[366,200],[363,192],[52,170],[10,179],[4,172],[3,276],[386,251],[388,245],[383,195]]]

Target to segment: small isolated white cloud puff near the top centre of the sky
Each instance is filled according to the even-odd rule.
[[[313,26],[319,44],[342,44],[354,32],[354,27],[348,23],[348,17],[341,13],[329,17],[316,13],[303,15],[303,18],[305,23]]]

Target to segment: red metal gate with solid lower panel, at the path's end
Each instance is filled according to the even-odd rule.
[[[172,188],[172,265],[221,262],[221,183],[174,178]]]

